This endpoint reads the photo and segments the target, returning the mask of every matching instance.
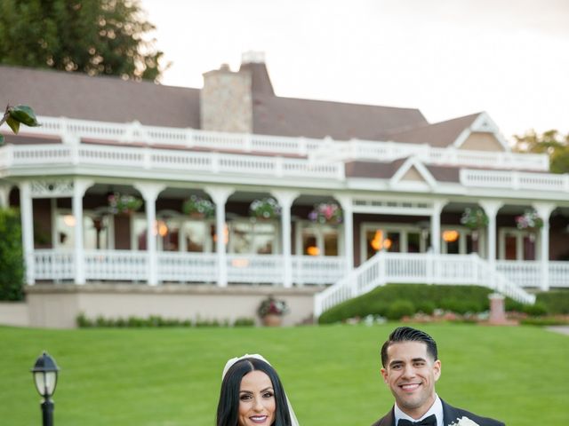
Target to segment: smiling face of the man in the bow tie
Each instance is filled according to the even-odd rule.
[[[421,417],[435,402],[441,362],[432,359],[421,342],[393,343],[387,353],[388,362],[381,368],[384,382],[399,408],[415,419]]]

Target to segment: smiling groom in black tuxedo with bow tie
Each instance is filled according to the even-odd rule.
[[[504,423],[449,406],[435,392],[441,375],[437,343],[427,333],[398,327],[381,347],[381,375],[395,406],[372,426],[504,426]]]

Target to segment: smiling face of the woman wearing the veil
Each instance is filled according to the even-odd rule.
[[[275,422],[275,390],[268,375],[247,373],[239,388],[239,426],[270,426]]]

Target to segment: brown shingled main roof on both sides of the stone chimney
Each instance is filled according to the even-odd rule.
[[[447,146],[478,115],[429,124],[414,108],[277,97],[265,64],[245,63],[241,71],[252,73],[252,130],[257,134]],[[0,67],[0,103],[29,105],[38,115],[199,129],[199,98],[199,89]]]

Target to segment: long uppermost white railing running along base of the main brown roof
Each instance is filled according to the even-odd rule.
[[[406,144],[391,141],[287,138],[144,126],[139,122],[95,122],[46,116],[38,117],[38,121],[42,123],[41,127],[26,128],[22,132],[57,136],[69,143],[79,140],[106,141],[114,144],[138,142],[155,147],[177,146],[241,153],[310,155],[317,160],[327,158],[339,162],[349,159],[390,162],[413,155],[428,164],[507,170],[549,170],[547,154],[489,153],[457,150],[453,146],[438,148],[427,144]]]

